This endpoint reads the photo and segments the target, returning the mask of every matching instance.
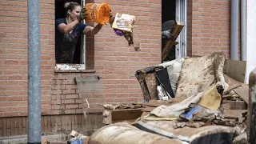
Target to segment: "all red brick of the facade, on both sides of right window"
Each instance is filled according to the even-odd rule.
[[[42,114],[81,114],[82,107],[79,108],[79,105],[82,106],[83,98],[88,98],[89,102],[92,102],[92,109],[88,110],[89,112],[100,111],[97,106],[100,102],[141,101],[142,90],[134,73],[136,70],[161,62],[162,22],[161,17],[155,16],[161,16],[161,2],[108,0],[113,14],[123,12],[137,16],[134,42],[139,43],[141,51],[135,51],[134,46],[128,46],[126,39],[116,36],[110,26],[103,26],[94,37],[88,36],[86,66],[95,69],[95,74],[100,75],[102,79],[99,81],[98,90],[91,90],[93,94],[79,95],[74,77],[95,74],[54,73],[54,1],[42,0]],[[3,103],[0,108],[7,111],[1,112],[0,117],[26,115],[27,3],[25,0],[3,1],[1,5],[0,10],[3,13],[0,14],[0,62],[5,66],[0,70],[0,82],[3,84],[0,86],[0,101]],[[229,57],[230,1],[191,1],[187,2],[187,6],[187,53],[206,55],[217,50],[225,50],[226,56]],[[19,13],[14,13],[17,10]],[[9,107],[17,109],[7,109]],[[62,110],[64,108],[70,110]]]

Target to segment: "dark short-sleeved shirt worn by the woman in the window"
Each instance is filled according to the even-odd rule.
[[[72,63],[74,50],[86,25],[79,23],[71,33],[63,34],[57,26],[66,22],[66,18],[58,18],[55,22],[55,58],[56,63]]]

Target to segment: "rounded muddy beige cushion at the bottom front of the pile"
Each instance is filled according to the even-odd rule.
[[[115,123],[97,130],[89,138],[88,144],[187,144],[175,138],[166,138],[139,130],[128,123]]]

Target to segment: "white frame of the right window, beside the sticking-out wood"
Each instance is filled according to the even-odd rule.
[[[184,27],[178,35],[175,49],[175,57],[186,57],[186,0],[176,0],[176,21],[183,22]]]

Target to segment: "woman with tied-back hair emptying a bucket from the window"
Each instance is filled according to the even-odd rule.
[[[58,18],[55,22],[55,58],[57,63],[72,63],[74,50],[81,34],[98,34],[102,25],[95,27],[82,24],[86,19],[86,9],[78,2],[66,2],[66,18]]]

